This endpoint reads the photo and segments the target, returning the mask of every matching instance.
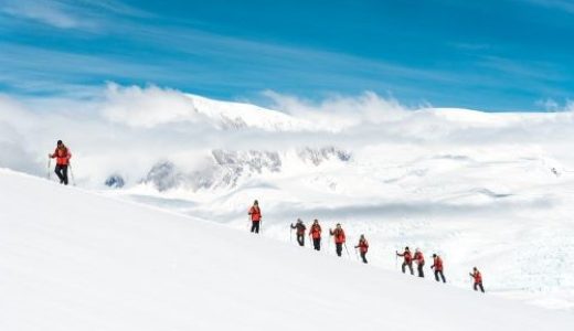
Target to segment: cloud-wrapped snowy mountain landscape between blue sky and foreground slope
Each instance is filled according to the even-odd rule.
[[[453,287],[479,266],[491,296],[574,309],[572,113],[407,109],[369,93],[274,110],[116,85],[0,107],[0,167],[45,178],[63,139],[86,190],[241,229],[258,199],[267,238],[289,242],[297,217],[340,222],[376,267],[421,247]]]

